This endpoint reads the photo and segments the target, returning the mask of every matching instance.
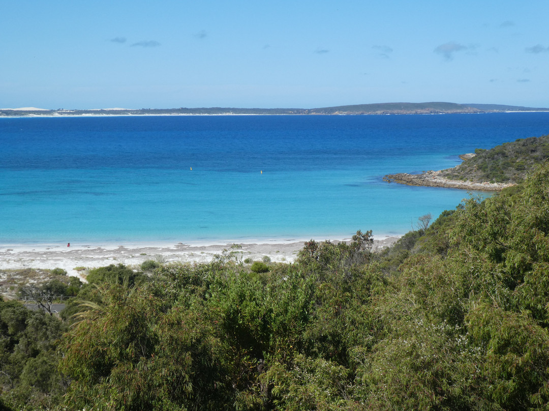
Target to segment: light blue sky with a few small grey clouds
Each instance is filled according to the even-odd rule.
[[[0,108],[549,107],[547,0],[2,0]]]

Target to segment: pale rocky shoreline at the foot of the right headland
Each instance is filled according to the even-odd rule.
[[[383,177],[383,181],[397,182],[399,184],[406,184],[409,186],[427,186],[427,187],[444,187],[444,188],[460,188],[461,190],[474,190],[474,191],[501,191],[503,188],[511,187],[516,184],[512,183],[491,183],[485,182],[473,182],[462,180],[450,180],[441,175],[441,170],[438,171],[424,171],[422,174],[388,174]]]

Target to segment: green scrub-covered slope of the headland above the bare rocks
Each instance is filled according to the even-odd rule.
[[[454,168],[442,170],[451,180],[513,182],[524,180],[534,164],[549,158],[549,135],[519,138],[489,150],[477,148],[475,156]]]

